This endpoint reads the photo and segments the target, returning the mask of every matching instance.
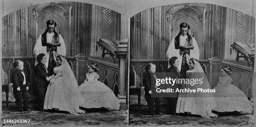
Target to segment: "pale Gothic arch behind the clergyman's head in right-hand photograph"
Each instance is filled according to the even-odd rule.
[[[187,3],[179,5],[170,5],[166,11],[166,15],[170,18],[170,38],[174,38],[179,33],[180,23],[188,23],[190,26],[189,35],[194,37],[199,46],[200,54],[202,51],[203,41],[203,25],[205,22],[205,4]],[[200,56],[202,59],[202,56]]]

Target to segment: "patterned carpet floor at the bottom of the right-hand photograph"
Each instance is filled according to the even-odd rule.
[[[161,106],[164,115],[148,115],[146,106],[132,105],[129,108],[129,125],[190,125],[190,126],[253,126],[253,114],[241,115],[237,113],[222,115],[210,119],[197,115],[167,114],[165,105]]]

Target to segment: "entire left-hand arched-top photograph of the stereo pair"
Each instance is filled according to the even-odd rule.
[[[2,20],[3,125],[127,125],[129,18],[51,2]]]

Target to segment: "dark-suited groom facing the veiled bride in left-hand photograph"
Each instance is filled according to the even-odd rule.
[[[46,80],[46,78],[49,76],[45,66],[47,58],[44,53],[41,53],[36,56],[36,60],[38,61],[38,64],[36,64],[35,67],[35,84],[38,94],[38,107],[39,111],[44,112],[44,97],[49,84],[49,81]]]

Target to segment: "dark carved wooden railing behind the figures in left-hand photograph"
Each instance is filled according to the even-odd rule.
[[[15,71],[13,62],[15,60],[22,60],[24,62],[24,71],[28,75],[28,85],[30,87],[28,93],[30,95],[35,95],[36,89],[34,85],[34,67],[35,67],[35,57],[9,57],[9,58],[3,58],[2,59],[2,87],[6,87],[8,84],[11,84],[11,75],[13,74],[13,71]],[[124,88],[124,84],[119,83],[119,65],[114,64],[111,62],[105,61],[107,59],[102,58],[88,58],[86,57],[85,60],[79,60],[79,58],[76,57],[67,57],[67,61],[69,62],[69,65],[71,69],[74,72],[75,77],[77,78],[78,85],[82,84],[82,82],[85,79],[85,74],[87,72],[87,63],[95,63],[99,66],[99,71],[97,74],[100,75],[99,81],[103,82],[105,85],[107,85],[110,89],[112,89],[116,96],[120,94],[121,89]],[[9,101],[13,98],[12,95],[12,89],[9,87]],[[7,90],[6,90],[7,91]],[[7,97],[8,94],[6,94]],[[35,99],[35,98],[33,98]]]

